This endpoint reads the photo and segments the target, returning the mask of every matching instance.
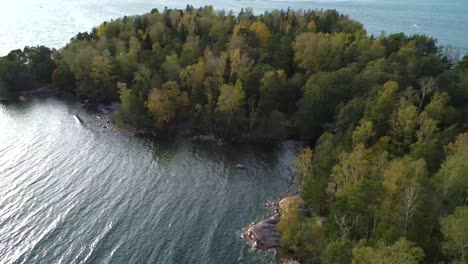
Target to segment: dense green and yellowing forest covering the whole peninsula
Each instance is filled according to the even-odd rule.
[[[0,58],[0,96],[50,84],[122,126],[301,139],[290,263],[468,262],[468,57],[333,10],[153,9]],[[312,216],[303,208],[311,208]]]

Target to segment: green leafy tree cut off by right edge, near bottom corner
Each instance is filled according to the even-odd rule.
[[[442,220],[442,232],[445,241],[443,251],[453,263],[468,261],[468,206],[457,207],[455,212]]]

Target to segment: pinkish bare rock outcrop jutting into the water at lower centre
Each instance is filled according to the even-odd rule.
[[[279,218],[273,216],[257,224],[251,224],[245,228],[242,239],[250,242],[255,250],[268,250],[278,248],[279,233],[276,229]]]

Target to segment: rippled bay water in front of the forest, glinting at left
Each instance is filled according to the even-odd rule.
[[[0,263],[269,259],[241,228],[287,191],[297,144],[155,142],[102,122],[57,100],[0,105]]]

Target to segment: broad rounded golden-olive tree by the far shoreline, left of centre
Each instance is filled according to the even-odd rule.
[[[174,81],[169,81],[161,87],[151,90],[146,107],[154,114],[159,126],[172,122],[178,112],[190,105],[187,92],[181,92]]]

